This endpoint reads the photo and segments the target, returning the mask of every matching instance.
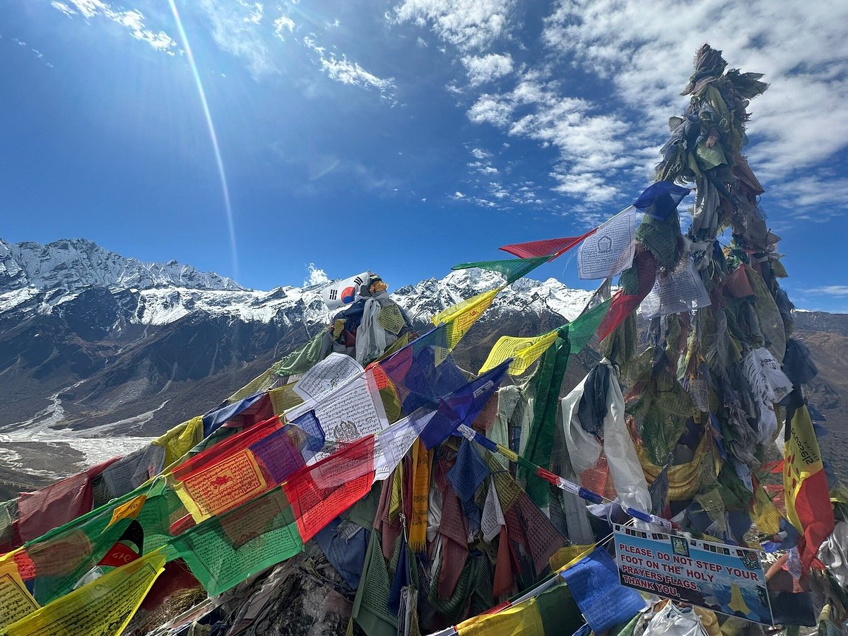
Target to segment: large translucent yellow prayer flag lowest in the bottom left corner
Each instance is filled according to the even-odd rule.
[[[160,551],[142,556],[12,623],[4,636],[118,636],[164,569]]]

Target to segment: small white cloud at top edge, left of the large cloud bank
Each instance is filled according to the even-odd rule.
[[[444,42],[462,51],[483,50],[505,34],[515,0],[404,0],[393,20],[430,25]]]

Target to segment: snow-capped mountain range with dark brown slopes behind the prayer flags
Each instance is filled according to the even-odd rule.
[[[393,298],[419,330],[432,315],[499,287],[465,270],[402,287]],[[176,261],[144,263],[84,239],[0,240],[0,435],[49,421],[89,429],[124,421],[163,432],[214,406],[326,325],[321,285],[247,289]],[[572,319],[589,292],[522,280],[499,294],[469,334],[535,335]],[[510,323],[510,318],[521,320]]]

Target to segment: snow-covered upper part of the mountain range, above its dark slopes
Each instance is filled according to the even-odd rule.
[[[441,279],[401,287],[392,298],[421,324],[504,282],[503,276],[492,271],[452,271]],[[285,326],[326,324],[336,313],[321,299],[321,289],[330,284],[261,292],[176,261],[127,259],[83,239],[48,245],[0,240],[0,315],[13,323],[27,315],[79,315],[106,303],[112,308],[109,315],[114,326],[163,326],[192,314]],[[545,282],[522,279],[499,293],[483,320],[530,312],[554,312],[572,320],[590,295],[553,278]]]

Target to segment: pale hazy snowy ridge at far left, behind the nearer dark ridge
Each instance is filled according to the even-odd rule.
[[[167,263],[128,259],[84,238],[54,243],[7,243],[0,239],[0,293],[31,287],[36,292],[86,287],[151,289],[186,287],[243,291],[232,278]]]

